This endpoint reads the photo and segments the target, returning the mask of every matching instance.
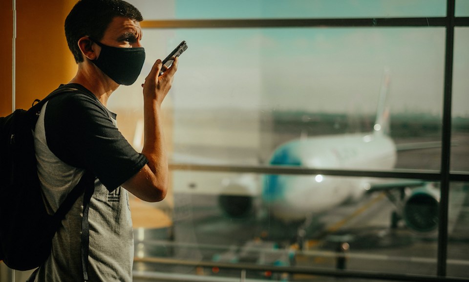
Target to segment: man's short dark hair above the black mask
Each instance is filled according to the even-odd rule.
[[[140,11],[123,0],[79,0],[75,4],[65,19],[65,37],[77,63],[84,60],[78,40],[84,36],[101,40],[115,17],[143,20]]]

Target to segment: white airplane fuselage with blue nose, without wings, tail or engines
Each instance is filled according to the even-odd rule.
[[[334,170],[390,170],[395,162],[394,142],[375,132],[293,140],[276,149],[270,164]],[[298,221],[362,195],[367,183],[361,177],[266,175],[262,199],[275,217]]]

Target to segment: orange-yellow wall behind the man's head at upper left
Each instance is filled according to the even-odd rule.
[[[6,3],[3,3],[6,2]],[[17,0],[16,108],[29,108],[75,74],[64,21],[75,0]],[[12,1],[2,1],[1,26],[7,32],[0,44],[0,116],[11,112]]]

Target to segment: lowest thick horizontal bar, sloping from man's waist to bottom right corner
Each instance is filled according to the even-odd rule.
[[[194,267],[218,267],[224,269],[247,270],[247,271],[272,271],[275,273],[289,274],[306,274],[319,276],[332,276],[341,278],[357,278],[357,279],[378,279],[388,281],[410,281],[410,282],[469,282],[469,279],[438,277],[428,275],[410,275],[410,274],[391,274],[391,273],[373,273],[366,271],[354,270],[333,270],[313,267],[290,267],[290,266],[268,266],[256,265],[252,263],[229,263],[229,262],[211,262],[211,261],[193,261],[178,260],[167,258],[134,258],[136,262],[184,265]]]

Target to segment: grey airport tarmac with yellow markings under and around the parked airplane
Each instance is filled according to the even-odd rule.
[[[464,158],[469,155],[469,134],[457,137],[460,146],[452,148],[457,156],[452,164],[457,170],[469,171]],[[426,149],[399,153],[396,167],[438,170],[440,152],[440,149]],[[452,183],[450,189],[447,275],[469,278],[469,184]],[[166,280],[155,278],[154,281],[217,281],[209,278],[239,277],[239,271],[234,270],[145,262],[152,257],[436,275],[437,233],[417,234],[403,224],[390,228],[393,210],[394,204],[384,194],[365,195],[359,201],[312,217],[301,237],[297,226],[275,220],[267,210],[247,219],[229,218],[219,208],[216,195],[175,194],[170,227],[136,230],[135,281],[144,281],[138,277],[145,273],[167,276]],[[348,245],[347,251],[341,252],[346,259],[338,260],[337,250],[343,243]],[[177,278],[178,275],[182,276]],[[246,273],[246,278],[253,281],[337,281],[333,277],[267,276],[270,274]],[[202,277],[207,280],[197,280]]]

